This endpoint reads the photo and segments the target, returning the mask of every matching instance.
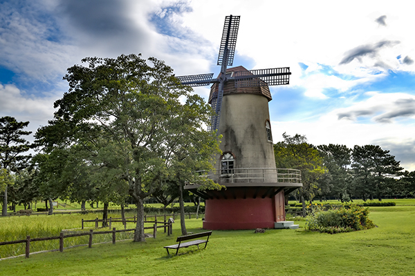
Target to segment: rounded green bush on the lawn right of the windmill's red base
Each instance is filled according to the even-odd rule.
[[[316,206],[307,216],[306,229],[335,234],[374,228],[373,222],[367,218],[368,214],[368,208],[357,205],[329,210]]]

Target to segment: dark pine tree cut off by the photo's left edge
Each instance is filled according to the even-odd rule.
[[[32,133],[23,130],[28,124],[28,121],[16,121],[14,117],[0,118],[0,168],[9,172],[19,172],[27,166],[31,155],[22,155],[22,153],[27,152],[32,146],[21,136]],[[3,191],[3,209],[1,210],[3,216],[7,215],[7,190],[8,184]]]

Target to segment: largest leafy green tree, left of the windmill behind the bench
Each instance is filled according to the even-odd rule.
[[[68,68],[64,79],[70,88],[55,102],[55,117],[38,131],[37,139],[47,147],[85,148],[89,151],[85,159],[99,166],[94,173],[111,175],[113,184],[125,184],[137,206],[134,242],[143,242],[143,200],[168,178],[175,146],[172,133],[178,133],[183,106],[205,124],[212,111],[205,112],[203,99],[178,85],[172,68],[158,59],[121,55],[82,62],[88,66]],[[213,133],[208,138],[216,141]]]

